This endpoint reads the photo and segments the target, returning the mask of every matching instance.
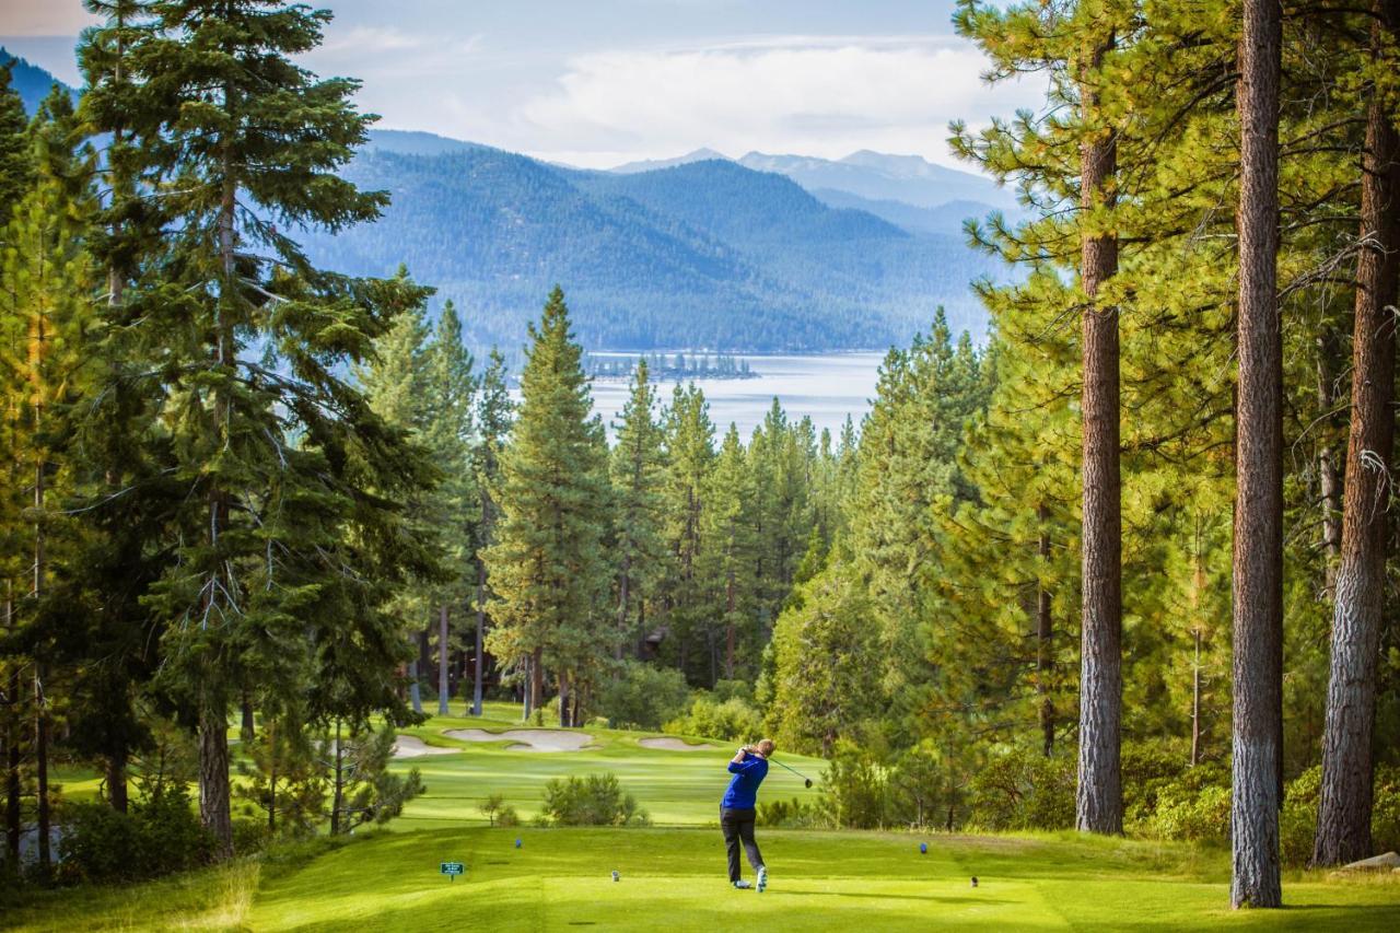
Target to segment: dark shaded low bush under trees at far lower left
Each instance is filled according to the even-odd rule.
[[[204,864],[213,853],[213,838],[199,824],[189,792],[174,785],[125,814],[105,804],[64,807],[63,824],[64,881],[154,878]]]

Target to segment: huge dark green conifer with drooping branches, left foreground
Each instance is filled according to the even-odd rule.
[[[242,691],[298,684],[291,668],[305,665],[309,716],[402,716],[400,643],[379,602],[428,559],[396,507],[428,472],[337,375],[371,353],[392,322],[381,303],[405,286],[321,273],[286,234],[372,220],[386,200],[335,174],[371,119],[350,104],[357,84],[291,62],[330,14],[263,0],[153,13],[112,101],[168,217],[141,328],[147,356],[164,360],[162,417],[188,496],[179,563],[150,600],[169,622],[167,688],[200,738],[202,820],[227,857],[227,720]]]

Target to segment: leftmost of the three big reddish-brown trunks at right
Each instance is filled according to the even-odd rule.
[[[1093,119],[1092,74],[1113,49],[1110,32],[1092,50],[1082,83],[1085,119]],[[1079,148],[1079,199],[1085,212],[1112,207],[1117,143],[1106,129]],[[1119,311],[1100,307],[1099,287],[1119,268],[1114,233],[1084,235],[1084,625],[1079,677],[1079,782],[1075,825],[1123,832],[1120,766],[1123,717],[1123,518],[1119,475]]]

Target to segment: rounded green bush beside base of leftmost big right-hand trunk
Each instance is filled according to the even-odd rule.
[[[1001,749],[973,775],[972,821],[994,831],[1074,825],[1075,761],[1025,748]]]

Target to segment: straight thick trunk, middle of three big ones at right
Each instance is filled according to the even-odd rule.
[[[1282,8],[1245,0],[1240,119],[1239,384],[1235,413],[1232,881],[1236,908],[1282,904],[1282,333],[1278,315],[1278,88]]]

